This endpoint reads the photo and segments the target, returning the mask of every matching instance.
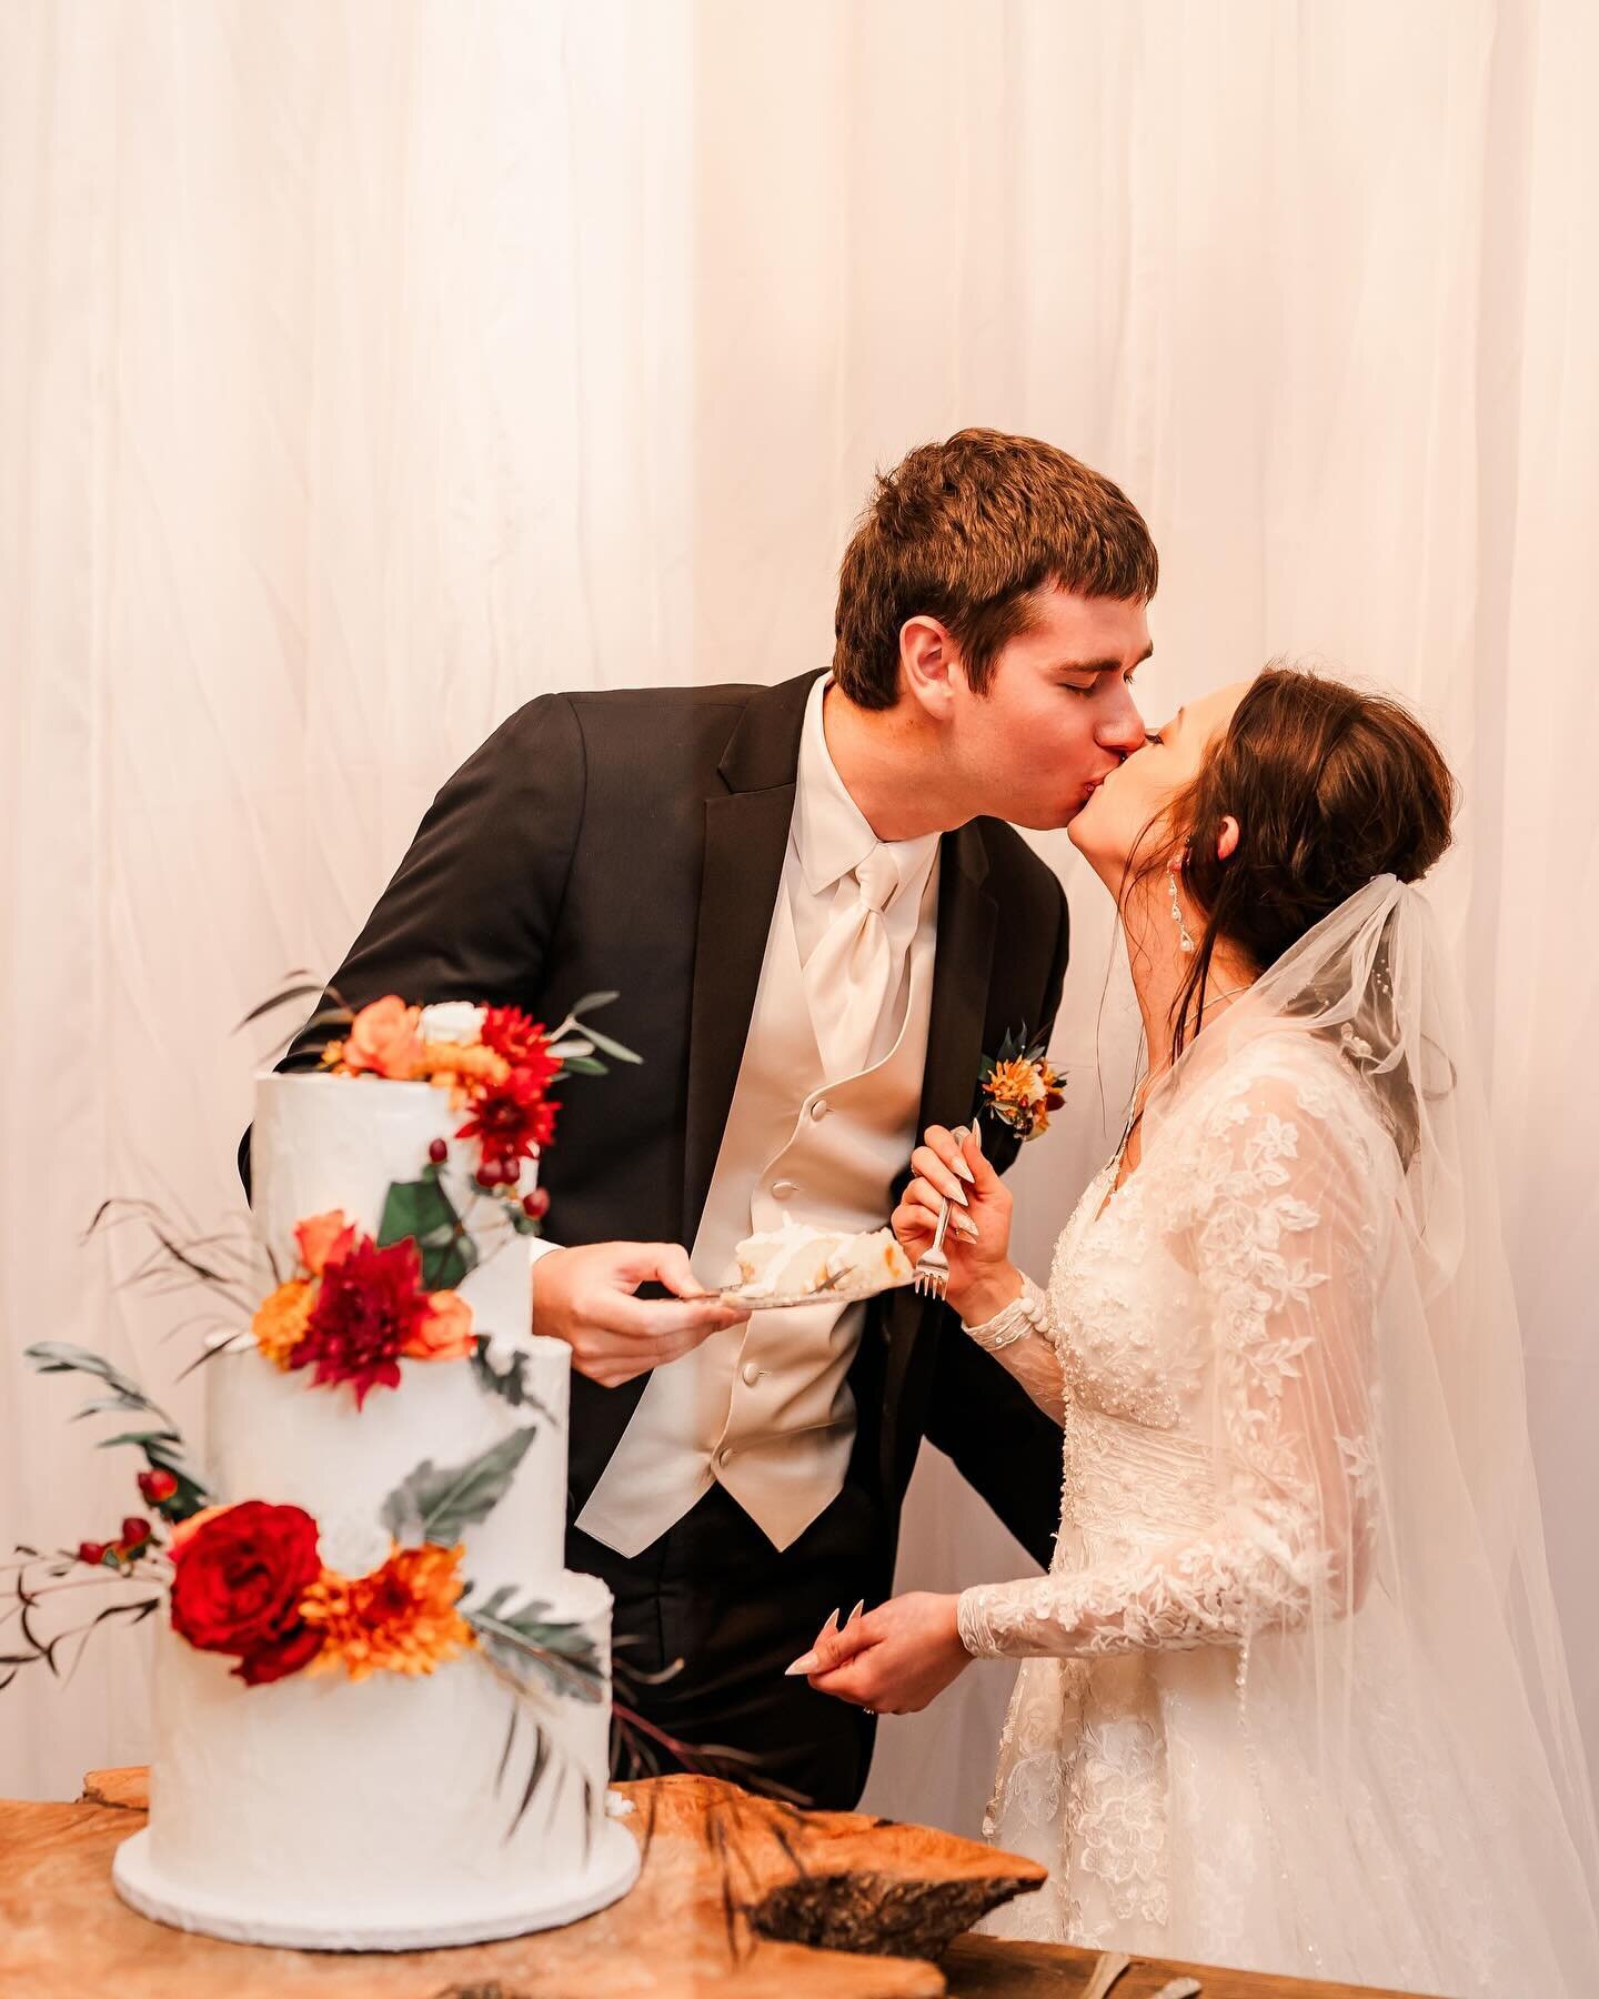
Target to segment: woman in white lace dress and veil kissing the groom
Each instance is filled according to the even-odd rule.
[[[1051,1571],[796,1661],[883,1713],[1021,1659],[985,1833],[1009,1935],[1447,1993],[1595,1993],[1593,1807],[1543,1559],[1485,1113],[1433,916],[1421,726],[1267,670],[1071,826],[1151,1051],[1047,1289],[931,1129],[949,1303],[1063,1427]],[[953,1333],[951,1323],[951,1337]]]

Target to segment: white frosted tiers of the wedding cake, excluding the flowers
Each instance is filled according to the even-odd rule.
[[[258,1079],[262,1289],[276,1283],[284,1309],[318,1295],[298,1235],[308,1217],[336,1213],[350,1239],[376,1239],[396,1187],[444,1187],[478,1265],[432,1291],[434,1307],[458,1303],[428,1323],[462,1335],[466,1307],[470,1333],[400,1357],[398,1385],[378,1375],[360,1399],[348,1377],[274,1361],[254,1333],[206,1359],[212,1495],[312,1517],[328,1587],[310,1643],[320,1631],[330,1649],[246,1683],[238,1657],[162,1625],[150,1823],[116,1857],[118,1891],[146,1915],[254,1943],[416,1949],[572,1921],[638,1873],[638,1841],[606,1813],[612,1599],[562,1563],[570,1349],[530,1331],[532,1259],[512,1225],[536,1161],[484,1191],[460,1123],[430,1081]],[[354,1319],[342,1327],[358,1335]],[[450,1487],[484,1467],[502,1491],[474,1513]],[[190,1547],[206,1515],[194,1527]],[[180,1581],[194,1559],[182,1531]],[[406,1539],[408,1559],[460,1575],[460,1595],[414,1625],[412,1653],[390,1633],[388,1669],[370,1669],[336,1615],[356,1601],[350,1579],[360,1591]],[[174,1585],[174,1625],[178,1613]],[[440,1619],[456,1619],[460,1645],[444,1645]]]

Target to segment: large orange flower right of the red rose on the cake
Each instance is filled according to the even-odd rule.
[[[466,1587],[460,1547],[396,1547],[370,1575],[324,1569],[300,1599],[300,1615],[324,1631],[312,1673],[342,1665],[352,1679],[370,1673],[432,1673],[476,1645],[456,1603]]]

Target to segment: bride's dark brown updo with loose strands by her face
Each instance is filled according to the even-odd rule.
[[[1171,1059],[1199,1025],[1219,944],[1265,972],[1377,876],[1417,882],[1449,846],[1455,800],[1443,754],[1399,702],[1267,666],[1173,802],[1171,840],[1137,868],[1147,878],[1185,846],[1183,888],[1203,918],[1171,1009]],[[1223,862],[1227,816],[1239,840]]]

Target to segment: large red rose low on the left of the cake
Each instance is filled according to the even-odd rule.
[[[320,1577],[316,1521],[298,1505],[244,1499],[172,1541],[172,1629],[232,1653],[248,1687],[298,1673],[322,1649],[302,1599]]]

